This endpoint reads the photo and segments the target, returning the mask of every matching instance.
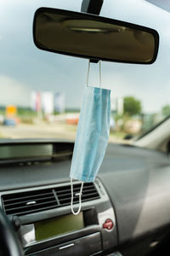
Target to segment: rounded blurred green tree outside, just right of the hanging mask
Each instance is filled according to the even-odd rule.
[[[133,96],[124,97],[124,113],[133,116],[142,111],[141,102]]]

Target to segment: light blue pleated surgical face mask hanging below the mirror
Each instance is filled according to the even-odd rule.
[[[71,189],[73,178],[82,182],[94,182],[105,156],[110,119],[111,90],[87,86],[84,91],[71,161]],[[80,201],[81,193],[78,194]]]

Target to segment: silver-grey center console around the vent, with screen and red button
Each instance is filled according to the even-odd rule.
[[[62,186],[68,185],[69,183],[62,184]],[[58,186],[61,186],[61,184],[55,185],[53,188],[44,186],[41,189],[55,189],[55,191],[58,191]],[[70,203],[67,206],[21,216],[9,214],[8,217],[12,220],[15,230],[20,236],[26,255],[89,256],[116,247],[116,218],[111,201],[99,179],[96,179],[94,187],[99,197],[89,200],[86,196],[86,199],[82,200],[82,211],[77,216],[71,213]],[[19,195],[22,192],[29,195],[30,189],[17,191]],[[90,189],[88,189],[88,192],[90,192]],[[10,193],[11,191],[6,191],[5,195],[2,193],[4,211],[5,201],[11,200]],[[28,201],[27,204],[33,204],[33,202]],[[74,204],[74,208],[77,207],[78,205]]]

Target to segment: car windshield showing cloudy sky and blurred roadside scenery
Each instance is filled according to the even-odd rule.
[[[80,11],[81,3],[0,2],[0,139],[75,139],[88,61],[37,49],[32,21],[42,6]],[[152,65],[102,62],[102,84],[114,88],[110,142],[122,143],[141,136],[170,114],[170,17],[143,0],[105,1],[100,15],[149,26],[160,34]],[[93,64],[89,84],[98,84],[98,76],[98,66]]]

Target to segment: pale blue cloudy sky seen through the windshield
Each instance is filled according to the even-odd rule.
[[[30,106],[31,90],[65,93],[67,108],[80,108],[88,60],[37,49],[32,20],[39,7],[80,11],[82,0],[0,0],[0,106]],[[102,61],[102,87],[116,97],[135,96],[145,113],[170,104],[170,14],[144,0],[104,0],[101,16],[150,26],[159,32],[160,47],[152,65]],[[95,65],[90,85],[98,83]]]

